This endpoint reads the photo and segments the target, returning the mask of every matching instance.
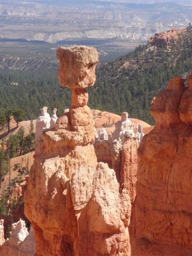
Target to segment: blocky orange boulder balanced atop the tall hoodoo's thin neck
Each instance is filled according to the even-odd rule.
[[[96,81],[95,68],[98,52],[94,47],[60,47],[57,50],[60,60],[58,77],[60,85],[67,88],[87,88]]]

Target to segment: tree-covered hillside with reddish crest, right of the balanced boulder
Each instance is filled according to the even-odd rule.
[[[169,34],[169,33],[168,33]],[[173,76],[192,71],[192,27],[168,45],[157,43],[140,45],[133,52],[103,65],[97,71],[97,82],[90,93],[90,104],[153,124],[149,113],[153,97],[166,88]],[[167,40],[165,40],[167,42]],[[99,106],[99,107],[97,107]]]

